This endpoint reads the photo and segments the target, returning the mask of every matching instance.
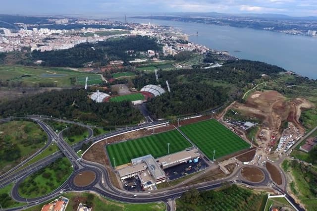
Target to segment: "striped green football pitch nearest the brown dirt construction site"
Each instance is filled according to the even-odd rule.
[[[214,119],[185,125],[180,129],[210,159],[213,158],[213,150],[216,159],[250,147],[250,144]]]

